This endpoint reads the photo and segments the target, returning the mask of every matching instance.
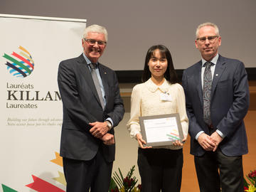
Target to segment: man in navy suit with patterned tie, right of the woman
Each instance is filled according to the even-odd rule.
[[[182,83],[200,191],[242,192],[247,73],[239,60],[218,54],[221,37],[215,24],[198,26],[195,43],[202,59],[184,70]]]

